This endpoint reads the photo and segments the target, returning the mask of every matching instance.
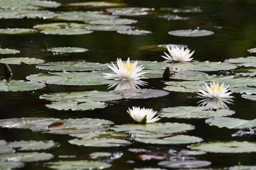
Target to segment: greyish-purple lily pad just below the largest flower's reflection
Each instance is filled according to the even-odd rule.
[[[121,94],[125,99],[148,99],[158,98],[168,95],[169,92],[156,89],[123,89],[113,91],[116,94]]]

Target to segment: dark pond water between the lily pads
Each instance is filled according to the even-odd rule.
[[[59,3],[69,3],[78,1],[57,1]],[[86,35],[45,35],[45,34],[24,34],[24,35],[0,35],[0,45],[2,48],[14,48],[20,50],[19,54],[1,55],[1,58],[7,57],[34,57],[43,59],[46,62],[51,61],[76,61],[84,60],[88,62],[106,63],[116,61],[116,58],[126,60],[130,57],[132,60],[164,61],[160,56],[163,52],[154,52],[140,50],[140,46],[152,44],[186,44],[189,49],[195,50],[194,59],[199,61],[224,61],[229,58],[238,58],[253,56],[247,50],[255,47],[256,44],[256,1],[124,1],[129,7],[150,7],[155,8],[153,14],[136,17],[125,17],[136,19],[138,22],[135,27],[140,30],[152,31],[153,34],[133,36],[118,34],[115,31],[104,32],[94,31]],[[180,8],[184,6],[200,7],[199,13],[180,13],[180,16],[189,17],[188,20],[167,20],[159,18],[159,15],[169,14],[168,11],[160,11],[162,7]],[[51,9],[49,9],[51,10]],[[88,10],[83,8],[59,7],[52,11],[69,10]],[[100,10],[100,9],[90,9]],[[0,28],[32,28],[41,23],[56,22],[54,20],[42,19],[1,19]],[[178,37],[168,35],[172,30],[186,30],[200,28],[203,30],[214,31],[214,35],[203,37]],[[58,46],[75,46],[88,48],[88,52],[70,53],[63,55],[52,55],[42,52],[46,48]],[[10,65],[15,80],[26,80],[26,76],[47,72],[36,69],[34,65]],[[4,75],[4,69],[0,69],[0,74]],[[82,79],[82,78],[81,78]],[[161,79],[148,79],[146,88],[163,89],[165,86]],[[200,100],[194,98],[197,94],[170,92],[169,95],[161,98],[146,100],[121,100],[117,104],[108,106],[104,109],[95,109],[91,111],[57,111],[48,109],[45,105],[50,102],[39,100],[41,94],[65,91],[83,91],[99,90],[106,91],[106,85],[101,86],[59,86],[47,85],[45,88],[35,91],[25,92],[1,92],[0,97],[0,118],[19,118],[19,117],[55,117],[55,118],[102,118],[111,120],[116,125],[132,123],[129,115],[126,114],[128,107],[140,106],[153,108],[159,111],[165,107],[176,106],[197,106]],[[254,119],[255,101],[241,98],[241,94],[234,93],[233,105],[228,105],[230,110],[236,111],[231,117],[241,119]],[[226,128],[210,127],[204,123],[205,119],[174,119],[162,118],[160,122],[178,122],[187,123],[195,126],[195,129],[189,131],[188,135],[198,136],[204,141],[256,141],[256,137],[231,137],[231,134],[237,130]],[[76,155],[76,158],[65,160],[89,159],[92,152],[122,152],[120,159],[114,160],[112,166],[108,169],[133,169],[135,167],[159,167],[159,161],[141,161],[135,159],[136,153],[127,151],[129,148],[140,148],[154,151],[157,155],[168,155],[170,149],[182,150],[187,145],[157,145],[143,144],[133,142],[126,147],[78,147],[69,144],[68,140],[73,139],[69,135],[42,134],[31,132],[30,130],[0,129],[0,139],[6,141],[14,140],[54,140],[60,143],[60,147],[47,150],[55,157],[53,161],[63,160],[59,155]],[[222,168],[237,165],[240,161],[243,165],[255,165],[256,153],[243,154],[211,154],[194,156],[198,160],[207,160],[211,162],[209,167]],[[51,161],[52,161],[51,160]],[[133,160],[134,162],[132,162]],[[26,163],[23,169],[47,169],[44,166],[46,161]]]

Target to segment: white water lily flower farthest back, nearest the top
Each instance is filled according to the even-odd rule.
[[[186,50],[184,50],[184,47],[182,46],[181,48],[179,47],[173,47],[172,46],[172,50],[166,45],[167,50],[170,54],[170,56],[164,52],[164,54],[166,56],[162,56],[164,59],[167,60],[167,62],[169,61],[177,61],[177,62],[186,62],[186,61],[191,61],[193,58],[190,58],[195,51],[190,52],[190,50],[188,50],[188,48],[186,48]]]

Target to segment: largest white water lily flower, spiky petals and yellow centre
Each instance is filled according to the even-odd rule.
[[[116,74],[103,73],[106,79],[114,79],[114,80],[139,80],[146,71],[141,71],[144,67],[143,65],[137,65],[138,61],[136,60],[134,63],[130,63],[130,58],[127,59],[126,62],[123,62],[120,58],[116,61],[117,66],[113,64],[109,66]]]

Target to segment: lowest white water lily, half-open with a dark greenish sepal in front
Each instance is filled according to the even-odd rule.
[[[138,123],[153,123],[160,120],[159,115],[154,117],[157,113],[157,111],[154,111],[153,109],[145,109],[144,107],[140,109],[140,107],[134,107],[132,109],[128,108],[127,112],[130,114],[132,119],[135,122]]]

